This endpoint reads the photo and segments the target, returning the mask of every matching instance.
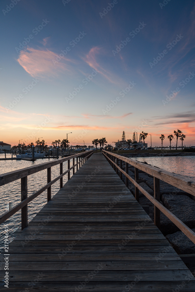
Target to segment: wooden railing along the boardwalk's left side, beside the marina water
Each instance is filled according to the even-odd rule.
[[[5,220],[10,218],[13,214],[18,212],[21,209],[21,227],[24,229],[28,225],[28,211],[27,211],[27,204],[39,196],[42,192],[47,190],[47,201],[51,200],[51,185],[53,185],[56,181],[60,180],[60,188],[63,186],[63,176],[68,174],[68,180],[70,179],[70,171],[73,170],[73,175],[75,173],[75,168],[78,170],[84,162],[93,154],[93,150],[82,152],[79,154],[71,155],[69,157],[60,158],[57,160],[53,160],[46,163],[41,163],[35,166],[30,166],[27,168],[22,168],[16,171],[11,171],[8,173],[4,173],[0,176],[0,186],[6,185],[11,183],[15,180],[21,179],[21,202],[14,206],[10,211],[7,211],[3,215],[0,216],[0,224],[3,223]],[[70,159],[72,159],[72,167],[70,167]],[[75,164],[76,159],[76,164]],[[63,173],[63,162],[68,161],[68,169]],[[51,180],[51,167],[60,164],[60,175]],[[40,190],[36,191],[31,196],[27,196],[28,194],[28,187],[27,187],[27,178],[28,175],[33,173],[37,173],[47,169],[47,184],[42,187]]]

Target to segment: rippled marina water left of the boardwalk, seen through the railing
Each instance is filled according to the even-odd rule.
[[[4,154],[0,154],[0,158],[5,157]],[[6,157],[11,157],[10,154],[6,154]],[[15,157],[15,156],[13,156]],[[55,158],[50,158],[50,161],[56,160]],[[41,164],[48,162],[48,159],[37,159],[36,161],[25,161],[25,160],[0,160],[0,175],[10,171],[15,171],[17,169],[34,166],[36,164]],[[70,160],[70,166],[72,166],[72,159]],[[63,163],[63,171],[67,170],[67,162]],[[60,175],[60,164],[53,166],[51,168],[51,179],[56,178]],[[70,172],[70,176],[72,171]],[[68,180],[67,175],[63,177],[63,183],[66,183]],[[16,180],[7,185],[1,186],[0,192],[0,214],[2,215],[9,210],[9,202],[12,203],[12,206],[15,206],[21,201],[21,191],[20,191],[20,182],[21,180]],[[39,190],[41,187],[47,184],[47,170],[39,171],[28,176],[28,196],[32,195],[34,192]],[[58,192],[60,188],[60,181],[57,181],[51,186],[52,196]],[[28,204],[28,221],[36,215],[37,212],[43,208],[47,203],[47,191],[40,194],[33,201]],[[13,240],[13,232],[21,226],[21,210],[15,213],[12,217],[0,225],[0,252],[3,251],[2,247],[4,246],[4,224],[9,224],[9,241]]]

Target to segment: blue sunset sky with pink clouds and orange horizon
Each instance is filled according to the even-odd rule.
[[[0,14],[1,141],[144,131],[157,146],[180,129],[195,145],[194,0],[1,0]]]

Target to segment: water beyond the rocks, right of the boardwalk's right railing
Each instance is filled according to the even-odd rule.
[[[132,158],[132,157],[131,157]],[[157,166],[195,179],[195,156],[133,157],[137,161]]]

